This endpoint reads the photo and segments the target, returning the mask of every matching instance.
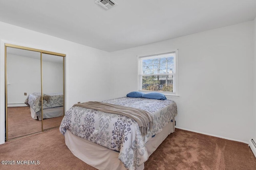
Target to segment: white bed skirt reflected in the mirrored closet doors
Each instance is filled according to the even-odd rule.
[[[32,107],[30,107],[30,112],[31,112],[31,117],[33,119],[38,118],[38,120],[40,120],[40,121],[42,120],[42,118],[41,118],[42,116],[37,117],[36,112],[34,111],[34,109],[32,109]],[[44,119],[63,116],[63,106],[43,109],[43,113],[44,113]],[[42,115],[42,111],[41,110],[38,111],[38,114]]]

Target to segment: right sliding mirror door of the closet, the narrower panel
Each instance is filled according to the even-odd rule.
[[[42,53],[43,130],[59,127],[64,116],[64,57]]]

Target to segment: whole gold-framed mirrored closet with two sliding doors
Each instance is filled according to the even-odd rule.
[[[60,126],[65,56],[5,44],[6,141]]]

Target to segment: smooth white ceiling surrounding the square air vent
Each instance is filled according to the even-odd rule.
[[[0,21],[118,51],[254,20],[256,0],[0,0]]]

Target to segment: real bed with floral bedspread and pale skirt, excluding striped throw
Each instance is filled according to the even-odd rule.
[[[144,162],[174,132],[176,103],[172,100],[116,98],[106,104],[133,107],[150,113],[153,124],[142,135],[138,123],[124,115],[73,106],[60,125],[71,152],[97,169],[144,169]]]

